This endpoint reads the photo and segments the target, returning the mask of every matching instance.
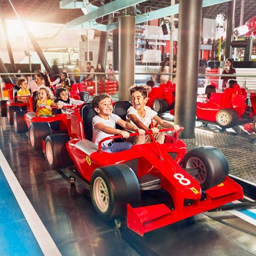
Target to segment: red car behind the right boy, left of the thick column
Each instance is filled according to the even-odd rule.
[[[166,84],[160,84],[158,87],[152,87],[148,93],[147,106],[157,113],[164,113],[174,108],[175,102],[175,84],[167,81]]]

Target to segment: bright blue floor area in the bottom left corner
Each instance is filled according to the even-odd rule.
[[[0,255],[43,255],[0,167]]]

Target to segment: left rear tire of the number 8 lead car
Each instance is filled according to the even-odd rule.
[[[46,137],[44,154],[46,163],[52,170],[74,165],[65,146],[68,141],[70,141],[70,137],[65,133]]]

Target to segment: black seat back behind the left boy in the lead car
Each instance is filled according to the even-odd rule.
[[[82,124],[84,125],[85,138],[89,141],[92,141],[92,119],[96,115],[96,112],[94,112],[92,105],[88,103],[81,107],[80,114],[82,118]]]

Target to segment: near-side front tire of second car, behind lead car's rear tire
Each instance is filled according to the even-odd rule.
[[[31,123],[28,127],[28,141],[34,150],[43,150],[42,141],[52,134],[52,129],[47,122]]]

